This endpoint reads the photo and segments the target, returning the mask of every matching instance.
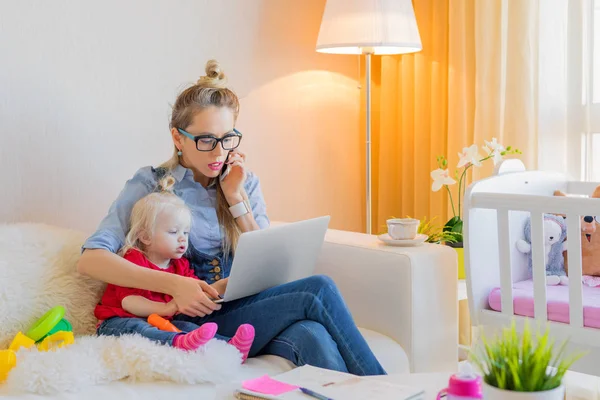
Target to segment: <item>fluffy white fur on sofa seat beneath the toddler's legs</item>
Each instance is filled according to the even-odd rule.
[[[55,394],[128,378],[131,381],[225,383],[241,369],[241,354],[221,340],[185,352],[141,336],[83,336],[54,352],[21,350],[6,385],[11,392]]]

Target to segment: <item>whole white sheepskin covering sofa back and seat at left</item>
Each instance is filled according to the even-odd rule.
[[[93,310],[104,285],[80,275],[76,263],[85,235],[42,224],[0,225],[0,349],[47,310],[62,305],[76,335],[52,352],[17,353],[5,385],[51,394],[120,379],[140,382],[222,383],[241,368],[241,355],[212,340],[196,352],[158,345],[138,335],[95,336]]]

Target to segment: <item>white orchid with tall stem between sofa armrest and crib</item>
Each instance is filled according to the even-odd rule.
[[[467,173],[473,167],[481,167],[484,162],[492,160],[494,165],[498,164],[502,159],[511,154],[521,154],[519,149],[511,146],[504,147],[496,138],[492,138],[490,142],[484,141],[485,146],[482,147],[485,155],[479,152],[479,146],[472,144],[469,147],[463,148],[463,151],[458,153],[458,164],[451,173],[448,169],[448,159],[444,156],[436,158],[437,169],[431,171],[431,179],[433,183],[431,190],[437,192],[442,188],[446,189],[452,207],[452,218],[446,222],[443,227],[444,232],[451,232],[454,241],[444,242],[446,245],[454,248],[458,256],[458,278],[465,279],[465,264],[463,251],[463,214],[462,202],[467,189]],[[452,176],[453,175],[453,176]],[[457,202],[454,201],[450,186],[458,182]]]

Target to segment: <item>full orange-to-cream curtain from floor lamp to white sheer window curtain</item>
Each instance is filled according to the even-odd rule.
[[[484,141],[495,137],[536,168],[540,98],[548,97],[538,87],[544,5],[413,0],[423,50],[373,56],[373,232],[392,216],[448,220],[447,192],[431,190],[439,155],[453,174],[463,147],[475,143],[484,155]],[[493,164],[471,171],[467,183],[489,176]],[[458,185],[451,190],[458,212]]]

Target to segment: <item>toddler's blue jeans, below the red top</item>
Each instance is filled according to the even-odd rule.
[[[172,323],[178,329],[180,329],[182,333],[188,333],[198,328],[198,325],[194,324],[193,322],[183,320],[172,321]],[[177,335],[175,332],[162,331],[150,325],[143,318],[119,317],[109,318],[103,321],[98,327],[97,333],[98,335],[104,336],[121,336],[137,333],[145,338],[169,346],[173,345],[173,338],[175,335]],[[226,341],[229,340],[229,338],[221,335],[216,335],[215,338]]]

